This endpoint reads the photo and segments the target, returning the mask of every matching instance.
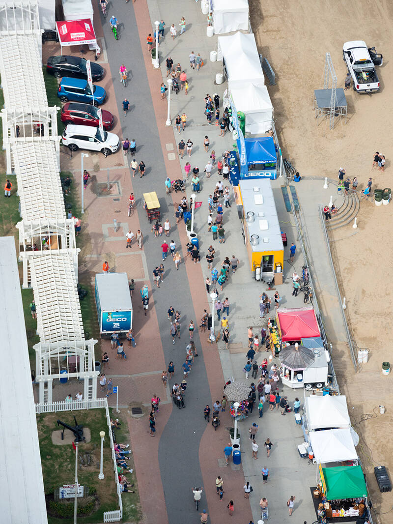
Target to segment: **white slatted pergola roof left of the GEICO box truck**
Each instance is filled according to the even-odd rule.
[[[40,342],[84,340],[72,254],[32,257],[29,264]]]

